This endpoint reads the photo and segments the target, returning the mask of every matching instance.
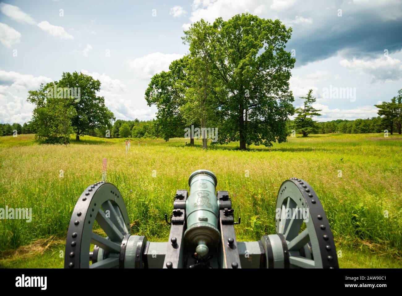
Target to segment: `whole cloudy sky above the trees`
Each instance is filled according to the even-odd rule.
[[[117,119],[155,118],[144,93],[152,75],[188,52],[183,30],[243,12],[292,28],[293,105],[313,89],[319,121],[377,116],[374,104],[402,88],[401,0],[4,0],[0,122],[29,121],[28,91],[74,71],[100,80]]]

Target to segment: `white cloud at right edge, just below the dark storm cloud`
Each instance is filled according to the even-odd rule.
[[[372,82],[396,81],[402,78],[402,63],[398,59],[391,57],[381,57],[373,60],[341,60],[340,64],[359,74],[370,74],[373,77]]]

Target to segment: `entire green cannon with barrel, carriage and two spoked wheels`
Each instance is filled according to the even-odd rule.
[[[131,234],[127,209],[111,183],[90,185],[79,197],[68,228],[65,268],[338,268],[328,219],[312,187],[291,178],[279,189],[275,234],[236,240],[228,191],[216,191],[207,170],[189,177],[190,194],[177,190],[167,242]],[[168,221],[170,220],[170,221]],[[103,230],[99,231],[94,223]],[[105,233],[106,237],[101,235]],[[91,250],[91,244],[94,245]]]

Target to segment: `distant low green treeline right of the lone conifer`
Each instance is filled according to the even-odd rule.
[[[294,129],[294,121],[289,120],[288,129]],[[383,133],[387,129],[398,132],[396,123],[391,129],[390,123],[384,118],[379,116],[367,119],[345,120],[336,119],[332,121],[317,122],[316,129],[312,134],[330,134],[330,133],[343,133],[343,134],[369,134],[369,133]]]

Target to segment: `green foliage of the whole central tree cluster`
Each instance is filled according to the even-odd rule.
[[[286,141],[294,113],[289,78],[295,59],[285,51],[290,36],[279,20],[248,13],[193,23],[183,37],[189,54],[154,75],[145,92],[148,105],[158,108],[164,139],[201,125],[219,129],[217,143],[240,141],[240,149]]]

